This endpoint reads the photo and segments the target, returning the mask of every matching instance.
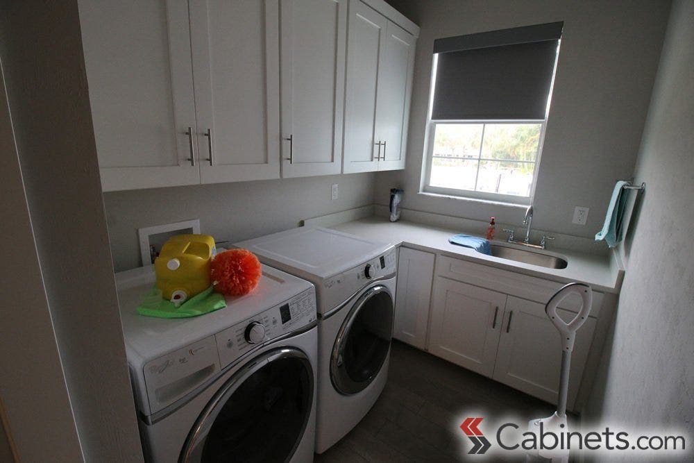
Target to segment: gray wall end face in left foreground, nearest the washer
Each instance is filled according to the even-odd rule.
[[[36,344],[57,340],[60,363],[51,366],[62,364],[83,458],[87,462],[142,461],[123,336],[117,329],[121,321],[76,2],[3,2],[0,35],[0,57],[45,292],[30,282],[19,288],[26,298],[46,297],[56,337],[33,337],[37,333],[26,321],[10,326],[16,332],[26,330],[26,339]],[[15,311],[22,310],[21,298],[11,301]],[[8,300],[3,299],[4,305]],[[31,348],[28,354],[40,352]],[[41,367],[20,357],[14,360],[12,371],[18,376]],[[46,382],[45,387],[50,386]],[[31,416],[31,408],[24,413],[54,428],[70,426],[51,422],[51,416],[40,411]],[[44,436],[32,437],[36,445],[45,441]],[[36,461],[76,460],[55,455]]]

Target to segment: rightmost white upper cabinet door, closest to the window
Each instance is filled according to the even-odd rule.
[[[375,139],[382,142],[378,170],[405,169],[414,44],[412,35],[388,22],[378,74]]]

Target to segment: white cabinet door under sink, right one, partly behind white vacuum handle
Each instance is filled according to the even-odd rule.
[[[576,316],[559,309],[565,321]],[[571,409],[581,384],[588,351],[593,342],[595,319],[588,320],[576,333],[571,355],[569,394]],[[561,371],[561,337],[545,314],[545,306],[509,296],[493,378],[532,396],[557,403]]]

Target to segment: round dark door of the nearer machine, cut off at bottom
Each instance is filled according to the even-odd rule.
[[[288,462],[311,415],[313,378],[296,348],[255,357],[205,407],[180,462]]]

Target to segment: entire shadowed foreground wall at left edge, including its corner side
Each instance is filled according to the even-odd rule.
[[[0,382],[25,386],[21,394],[3,396],[19,458],[142,462],[117,328],[121,320],[76,2],[3,1],[0,60],[16,149],[12,159],[8,145],[2,146],[0,180],[17,160],[21,169],[21,177],[0,181],[3,206],[16,204],[17,194],[25,196],[22,208],[10,209],[22,214],[2,216],[10,222],[2,230],[10,248],[3,251],[3,267],[11,277],[1,278],[16,292],[0,295],[0,337],[3,342],[23,338],[8,349],[0,342],[3,360],[10,362],[7,370],[0,369]],[[2,126],[7,130],[8,124]],[[13,239],[12,230],[25,219],[30,231]],[[23,259],[15,258],[22,251]],[[26,268],[33,260],[36,271]],[[19,281],[22,276],[31,278]],[[15,355],[12,349],[24,342],[26,348]],[[65,387],[69,398],[62,395]],[[0,394],[5,393],[3,385]],[[49,405],[41,407],[46,401]],[[56,410],[62,401],[68,410]]]

